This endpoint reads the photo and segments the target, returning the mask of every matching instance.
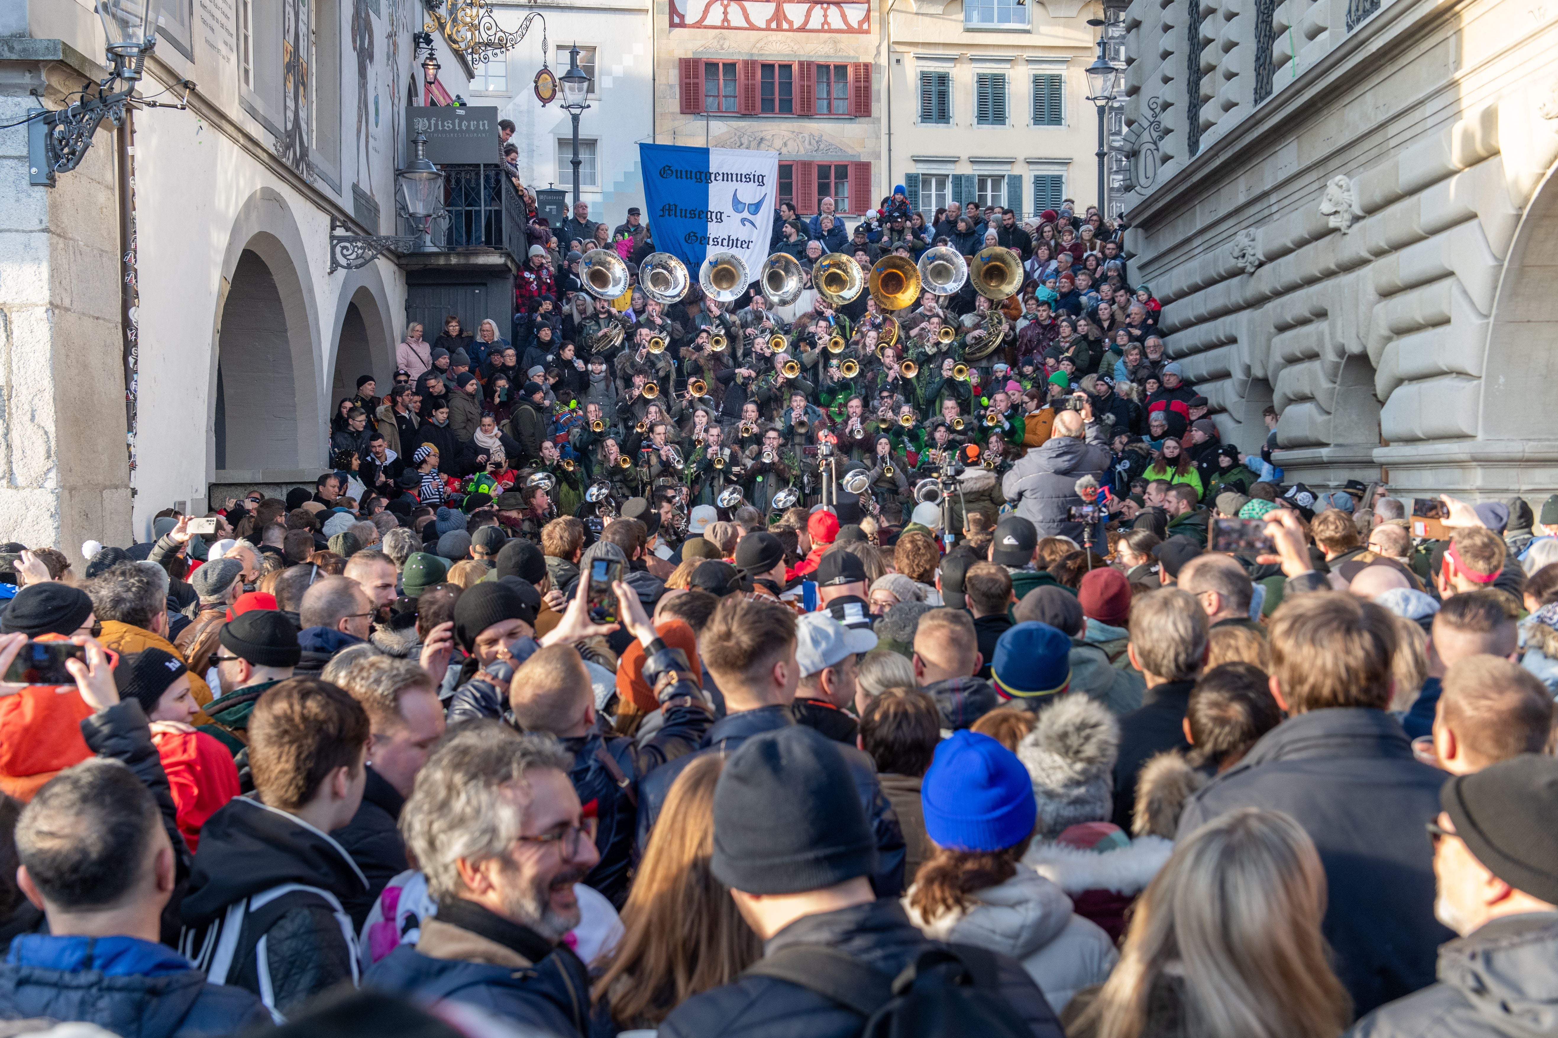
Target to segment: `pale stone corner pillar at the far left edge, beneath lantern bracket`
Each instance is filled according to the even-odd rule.
[[[0,123],[104,73],[61,40],[0,39]],[[55,188],[0,131],[0,542],[131,543],[112,124]],[[154,342],[154,333],[150,336]]]

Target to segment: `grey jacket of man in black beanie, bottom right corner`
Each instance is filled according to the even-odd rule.
[[[1538,1038],[1558,1035],[1558,914],[1483,923],[1440,948],[1438,984],[1384,1005],[1348,1038]]]

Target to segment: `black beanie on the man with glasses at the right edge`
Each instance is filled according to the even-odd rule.
[[[1457,775],[1440,787],[1440,806],[1455,823],[1455,836],[1488,871],[1516,890],[1558,904],[1558,833],[1541,825],[1558,812],[1558,759],[1521,753]]]

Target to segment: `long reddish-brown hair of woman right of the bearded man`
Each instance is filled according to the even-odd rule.
[[[659,1027],[693,994],[731,984],[762,959],[762,942],[709,868],[723,767],[721,756],[693,761],[665,797],[622,909],[622,940],[595,963],[595,1035]]]

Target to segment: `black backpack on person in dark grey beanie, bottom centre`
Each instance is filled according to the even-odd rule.
[[[969,945],[927,948],[897,977],[834,948],[795,945],[745,976],[787,980],[838,1002],[863,1018],[862,1038],[1031,1038],[996,973],[996,956]]]

